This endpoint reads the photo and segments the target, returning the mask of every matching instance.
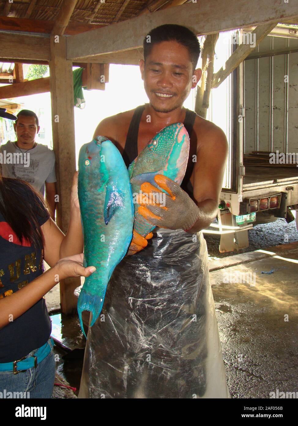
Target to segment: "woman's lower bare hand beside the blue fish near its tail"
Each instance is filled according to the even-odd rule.
[[[83,267],[84,254],[75,254],[74,256],[64,257],[60,259],[54,266],[54,271],[57,271],[58,280],[65,279],[71,276],[89,276],[96,271],[95,266]]]

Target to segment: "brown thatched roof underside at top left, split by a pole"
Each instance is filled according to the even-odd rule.
[[[111,24],[136,16],[146,3],[149,3],[148,0],[78,0],[71,21]],[[14,0],[13,3],[0,0],[0,15],[55,20],[61,4],[62,0]]]

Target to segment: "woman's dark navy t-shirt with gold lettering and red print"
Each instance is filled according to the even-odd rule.
[[[42,206],[38,197],[21,182],[18,190],[20,197],[17,202],[22,203],[22,197],[28,197],[32,209],[37,211],[37,207],[34,208],[36,202]],[[49,218],[43,206],[42,209],[43,216],[36,213],[40,226]],[[43,273],[43,250],[29,244],[19,242],[0,213],[0,299],[9,297]],[[25,357],[44,345],[50,334],[51,320],[43,297],[23,315],[0,329],[0,363]]]

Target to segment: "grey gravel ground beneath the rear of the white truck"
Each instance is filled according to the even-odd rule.
[[[237,253],[245,253],[247,251],[264,250],[266,247],[275,245],[288,244],[298,241],[298,231],[295,220],[287,223],[285,219],[278,218],[275,222],[262,225],[255,225],[253,229],[248,231],[249,247],[228,253],[219,252],[220,236],[214,234],[204,234],[207,242],[209,256],[212,258],[221,258],[233,256]]]

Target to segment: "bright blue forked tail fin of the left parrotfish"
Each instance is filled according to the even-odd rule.
[[[94,322],[99,317],[100,312],[102,311],[102,305],[105,300],[105,291],[107,289],[107,286],[105,286],[105,289],[102,291],[101,294],[90,294],[87,291],[84,290],[84,287],[82,288],[80,294],[79,294],[79,300],[78,300],[78,314],[79,314],[79,323],[81,325],[82,332],[84,336],[86,337],[83,322],[82,322],[82,312],[83,311],[89,311],[92,314],[92,321],[89,325],[89,327],[92,327]],[[87,337],[86,337],[87,338]]]

